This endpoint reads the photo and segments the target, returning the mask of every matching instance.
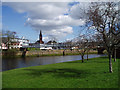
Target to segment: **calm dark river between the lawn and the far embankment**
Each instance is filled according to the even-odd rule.
[[[89,58],[101,57],[105,55],[90,54]],[[84,56],[86,59],[86,55]],[[60,62],[76,61],[81,60],[80,55],[70,55],[70,56],[43,56],[43,57],[26,57],[26,58],[4,58],[2,59],[2,71],[29,67],[29,66],[39,66]]]

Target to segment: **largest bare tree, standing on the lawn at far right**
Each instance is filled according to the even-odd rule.
[[[117,3],[91,3],[88,10],[89,23],[102,35],[104,46],[109,56],[109,72],[112,73],[112,53],[120,43],[120,22]]]

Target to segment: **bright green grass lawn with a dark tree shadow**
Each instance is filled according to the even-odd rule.
[[[108,58],[33,66],[3,72],[3,88],[118,88],[118,60]]]

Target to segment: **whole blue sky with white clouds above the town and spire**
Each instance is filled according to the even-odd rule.
[[[42,30],[43,40],[51,38],[65,41],[78,35],[84,26],[82,8],[88,4],[78,2],[4,2],[2,6],[3,29],[16,31],[31,42],[39,38]]]

